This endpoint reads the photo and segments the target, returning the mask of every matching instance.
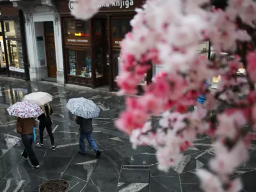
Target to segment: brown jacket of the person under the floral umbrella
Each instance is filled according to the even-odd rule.
[[[16,131],[19,134],[31,134],[33,127],[36,127],[36,121],[33,118],[18,118]]]

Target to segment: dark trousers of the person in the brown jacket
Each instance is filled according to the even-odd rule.
[[[22,143],[25,147],[23,156],[24,157],[29,157],[31,164],[33,166],[37,166],[39,164],[38,159],[36,158],[36,155],[33,151],[32,144],[34,140],[33,133],[31,134],[22,134],[21,136]]]

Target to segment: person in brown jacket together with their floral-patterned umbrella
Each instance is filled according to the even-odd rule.
[[[33,151],[32,144],[35,142],[35,119],[43,113],[40,107],[34,103],[17,102],[7,109],[9,115],[17,116],[16,131],[21,134],[24,152],[21,156],[30,159],[33,168],[40,168],[39,161]]]

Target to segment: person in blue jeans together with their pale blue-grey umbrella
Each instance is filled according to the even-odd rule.
[[[79,138],[79,154],[85,154],[84,139],[86,138],[89,145],[93,148],[96,157],[99,157],[101,151],[97,147],[92,137],[93,126],[92,118],[99,116],[99,107],[85,98],[74,98],[68,100],[67,108],[73,115],[76,115],[76,123],[80,126],[80,138]]]

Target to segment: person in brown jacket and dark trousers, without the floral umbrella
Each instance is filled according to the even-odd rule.
[[[21,140],[24,145],[24,152],[21,156],[24,159],[30,159],[33,168],[40,168],[38,159],[33,151],[32,144],[34,141],[33,127],[36,126],[34,118],[18,118],[17,119],[17,132],[21,134]]]

